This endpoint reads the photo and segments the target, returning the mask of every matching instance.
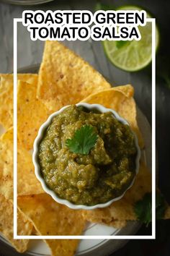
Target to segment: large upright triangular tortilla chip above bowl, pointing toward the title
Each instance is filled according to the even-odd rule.
[[[38,77],[37,97],[50,111],[79,103],[111,86],[84,59],[57,41],[46,41]]]

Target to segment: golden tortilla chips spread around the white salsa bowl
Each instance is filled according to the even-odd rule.
[[[45,194],[37,181],[32,163],[33,142],[48,116],[68,104],[99,103],[117,111],[143,138],[136,121],[131,85],[111,88],[99,72],[57,41],[47,41],[39,74],[18,74],[18,152],[17,152],[17,234],[80,235],[86,221],[121,228],[136,220],[133,205],[151,192],[151,173],[144,163],[135,184],[122,200],[108,208],[71,210]],[[13,75],[0,74],[0,231],[18,252],[28,248],[28,239],[13,239]],[[169,208],[165,218],[169,218]],[[79,219],[79,221],[77,221]],[[79,240],[47,239],[51,255],[74,255]]]

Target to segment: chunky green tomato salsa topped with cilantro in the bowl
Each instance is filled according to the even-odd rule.
[[[38,158],[46,184],[58,197],[76,205],[96,205],[122,195],[129,187],[136,154],[128,125],[110,112],[72,105],[53,117]]]

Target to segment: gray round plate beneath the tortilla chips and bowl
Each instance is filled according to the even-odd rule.
[[[20,73],[37,73],[40,65],[32,65],[30,67],[24,67],[22,69],[19,69],[18,72]],[[143,115],[143,113],[140,111],[138,108],[138,124],[139,127],[143,133],[143,138],[145,141],[146,148],[143,150],[143,158],[147,162],[148,167],[151,169],[151,127],[150,124],[148,123],[148,120],[146,119],[146,116]],[[97,225],[97,224],[96,224]],[[140,224],[136,221],[130,221],[128,225],[120,230],[116,231],[117,235],[133,235],[135,234],[138,229],[140,228]],[[92,226],[90,229],[95,229],[95,225]],[[102,226],[102,229],[107,229],[107,227]],[[101,226],[100,226],[100,230]],[[113,234],[109,233],[109,234]],[[97,234],[94,234],[97,235]],[[99,234],[98,234],[99,235]],[[100,234],[102,235],[102,234]],[[90,244],[91,240],[83,240],[81,243],[85,242],[86,244],[86,249],[79,249],[79,252],[77,255],[83,255],[83,256],[93,256],[94,254],[97,254],[99,256],[104,256],[104,255],[109,255],[112,252],[115,252],[117,249],[120,249],[120,247],[124,246],[128,240],[94,240],[94,244]],[[36,256],[47,256],[49,255],[46,250],[44,249],[36,249],[38,240],[32,241],[30,244],[30,249],[27,253],[24,253],[24,255],[36,255]],[[39,242],[40,243],[40,242]],[[88,244],[88,245],[87,245]],[[11,256],[11,255],[20,255],[19,253],[15,252],[14,249],[7,244],[6,240],[0,236],[0,245],[1,245],[1,256]],[[81,246],[81,245],[80,245]],[[89,248],[88,248],[89,246]],[[39,244],[39,247],[44,247],[44,244]],[[43,252],[44,251],[44,252]],[[22,254],[23,255],[23,254]]]

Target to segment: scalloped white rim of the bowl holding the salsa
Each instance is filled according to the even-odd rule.
[[[70,105],[69,105],[70,106]],[[93,109],[97,109],[98,111],[102,112],[102,113],[106,113],[106,112],[112,112],[113,116],[115,116],[115,118],[120,121],[122,124],[128,124],[128,121],[126,121],[125,119],[123,119],[122,117],[120,117],[116,111],[109,109],[109,108],[104,108],[104,106],[99,105],[99,104],[89,104],[89,103],[79,103],[76,104],[76,106],[84,106],[86,108],[88,108],[89,110],[93,110]],[[34,163],[35,166],[35,175],[37,176],[37,179],[41,182],[42,184],[42,188],[44,189],[44,191],[46,193],[48,193],[51,197],[53,197],[53,199],[56,202],[59,202],[63,205],[68,206],[68,208],[71,209],[84,209],[84,210],[93,210],[96,208],[105,208],[109,205],[112,204],[112,202],[115,202],[117,200],[120,200],[124,195],[125,192],[130,189],[130,187],[132,187],[133,182],[135,180],[135,177],[133,179],[133,181],[131,182],[130,186],[128,187],[128,189],[125,190],[125,192],[122,193],[122,195],[120,195],[120,197],[115,197],[112,200],[109,200],[108,202],[104,202],[98,205],[92,205],[92,206],[88,206],[88,205],[74,205],[72,202],[69,202],[68,200],[65,199],[61,199],[60,197],[58,197],[58,195],[55,194],[55,192],[50,189],[48,187],[48,185],[45,183],[45,180],[42,177],[41,171],[40,171],[40,165],[37,161],[37,153],[38,153],[38,147],[39,147],[39,143],[42,140],[43,137],[43,133],[45,132],[45,129],[48,128],[48,126],[50,125],[52,119],[54,116],[57,116],[58,114],[61,114],[61,112],[63,112],[64,109],[68,108],[68,106],[64,106],[63,108],[61,108],[59,111],[56,111],[55,113],[51,114],[47,121],[45,121],[44,124],[42,124],[42,126],[40,127],[37,137],[35,138],[35,142],[34,142],[34,151],[33,151],[33,155],[32,155],[32,161]],[[129,125],[129,124],[128,124]],[[132,131],[133,132],[133,131]],[[135,133],[133,132],[133,134],[135,135]],[[135,145],[137,148],[137,155],[136,155],[136,159],[135,159],[135,174],[138,174],[138,169],[139,169],[139,160],[140,160],[140,148],[138,146],[138,138],[135,135]]]

